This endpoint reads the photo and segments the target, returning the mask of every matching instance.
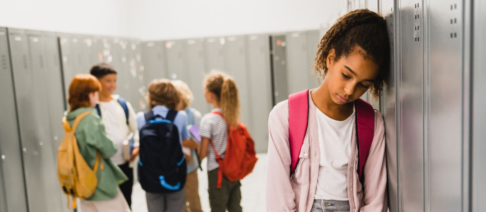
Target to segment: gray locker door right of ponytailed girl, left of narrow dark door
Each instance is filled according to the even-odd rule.
[[[272,76],[270,71],[269,35],[249,35],[247,41],[248,72],[253,119],[252,137],[257,152],[268,150],[268,114],[272,110]]]

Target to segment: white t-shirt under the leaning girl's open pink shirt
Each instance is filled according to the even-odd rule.
[[[347,165],[351,155],[354,113],[345,121],[336,121],[319,109],[315,110],[321,157],[314,199],[349,200]]]

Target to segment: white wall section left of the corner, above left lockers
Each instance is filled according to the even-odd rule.
[[[127,0],[0,0],[0,26],[128,36]]]

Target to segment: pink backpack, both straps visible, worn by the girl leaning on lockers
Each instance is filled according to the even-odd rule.
[[[362,99],[354,101],[356,107],[356,142],[358,145],[358,170],[360,180],[375,132],[375,111]],[[309,90],[289,95],[289,142],[292,163],[290,173],[295,172],[300,149],[304,144],[309,116]]]

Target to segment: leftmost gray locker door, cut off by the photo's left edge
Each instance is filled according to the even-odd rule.
[[[12,42],[21,42],[25,36],[10,36]],[[18,41],[20,39],[20,41]],[[26,55],[27,57],[27,55]],[[27,60],[27,58],[26,58]],[[26,61],[27,62],[27,61]],[[23,65],[21,63],[20,65]],[[26,64],[27,65],[27,64]],[[25,181],[18,136],[17,108],[10,64],[7,30],[0,27],[0,211],[27,212]]]

